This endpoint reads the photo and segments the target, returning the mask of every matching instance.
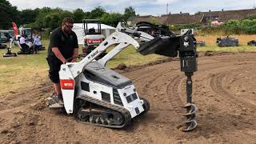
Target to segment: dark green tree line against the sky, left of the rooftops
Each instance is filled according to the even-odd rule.
[[[108,13],[101,6],[95,7],[91,11],[76,9],[73,11],[62,10],[61,8],[36,8],[18,10],[17,6],[12,6],[6,0],[0,0],[0,29],[10,29],[11,22],[18,26],[31,28],[50,28],[53,30],[62,23],[65,17],[74,18],[74,22],[82,22],[82,19],[100,19],[102,23],[109,26],[117,26],[118,22],[126,21],[129,17],[135,16],[133,7],[126,7],[123,14]]]

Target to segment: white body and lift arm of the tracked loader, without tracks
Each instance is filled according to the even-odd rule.
[[[112,45],[116,45],[112,53],[110,51],[102,59],[94,60]],[[143,100],[138,97],[130,79],[105,67],[107,61],[129,45],[133,45],[135,49],[139,47],[134,38],[117,31],[81,62],[62,64],[59,76],[67,114],[74,112],[74,98],[82,94],[123,106],[130,111],[132,118],[143,112]]]

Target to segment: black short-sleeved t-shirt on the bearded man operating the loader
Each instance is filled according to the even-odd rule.
[[[71,58],[74,48],[78,48],[77,35],[72,31],[66,35],[62,31],[62,27],[58,27],[50,34],[50,44],[48,48],[48,58],[57,58],[51,50],[53,47],[58,47],[64,58]]]

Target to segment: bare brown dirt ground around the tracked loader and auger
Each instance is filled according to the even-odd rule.
[[[199,54],[193,76],[198,127],[188,133],[181,131],[186,77],[177,59],[121,71],[151,105],[122,130],[84,125],[49,110],[52,89],[45,78],[30,90],[1,95],[0,143],[256,143],[255,67],[256,53]]]

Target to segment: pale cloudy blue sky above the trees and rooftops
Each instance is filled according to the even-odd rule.
[[[194,14],[198,11],[242,10],[252,9],[256,0],[9,0],[18,10],[47,7],[60,7],[63,10],[84,11],[102,6],[107,12],[123,13],[125,8],[132,6],[136,14],[160,16],[182,13]],[[167,6],[168,5],[168,6]]]

